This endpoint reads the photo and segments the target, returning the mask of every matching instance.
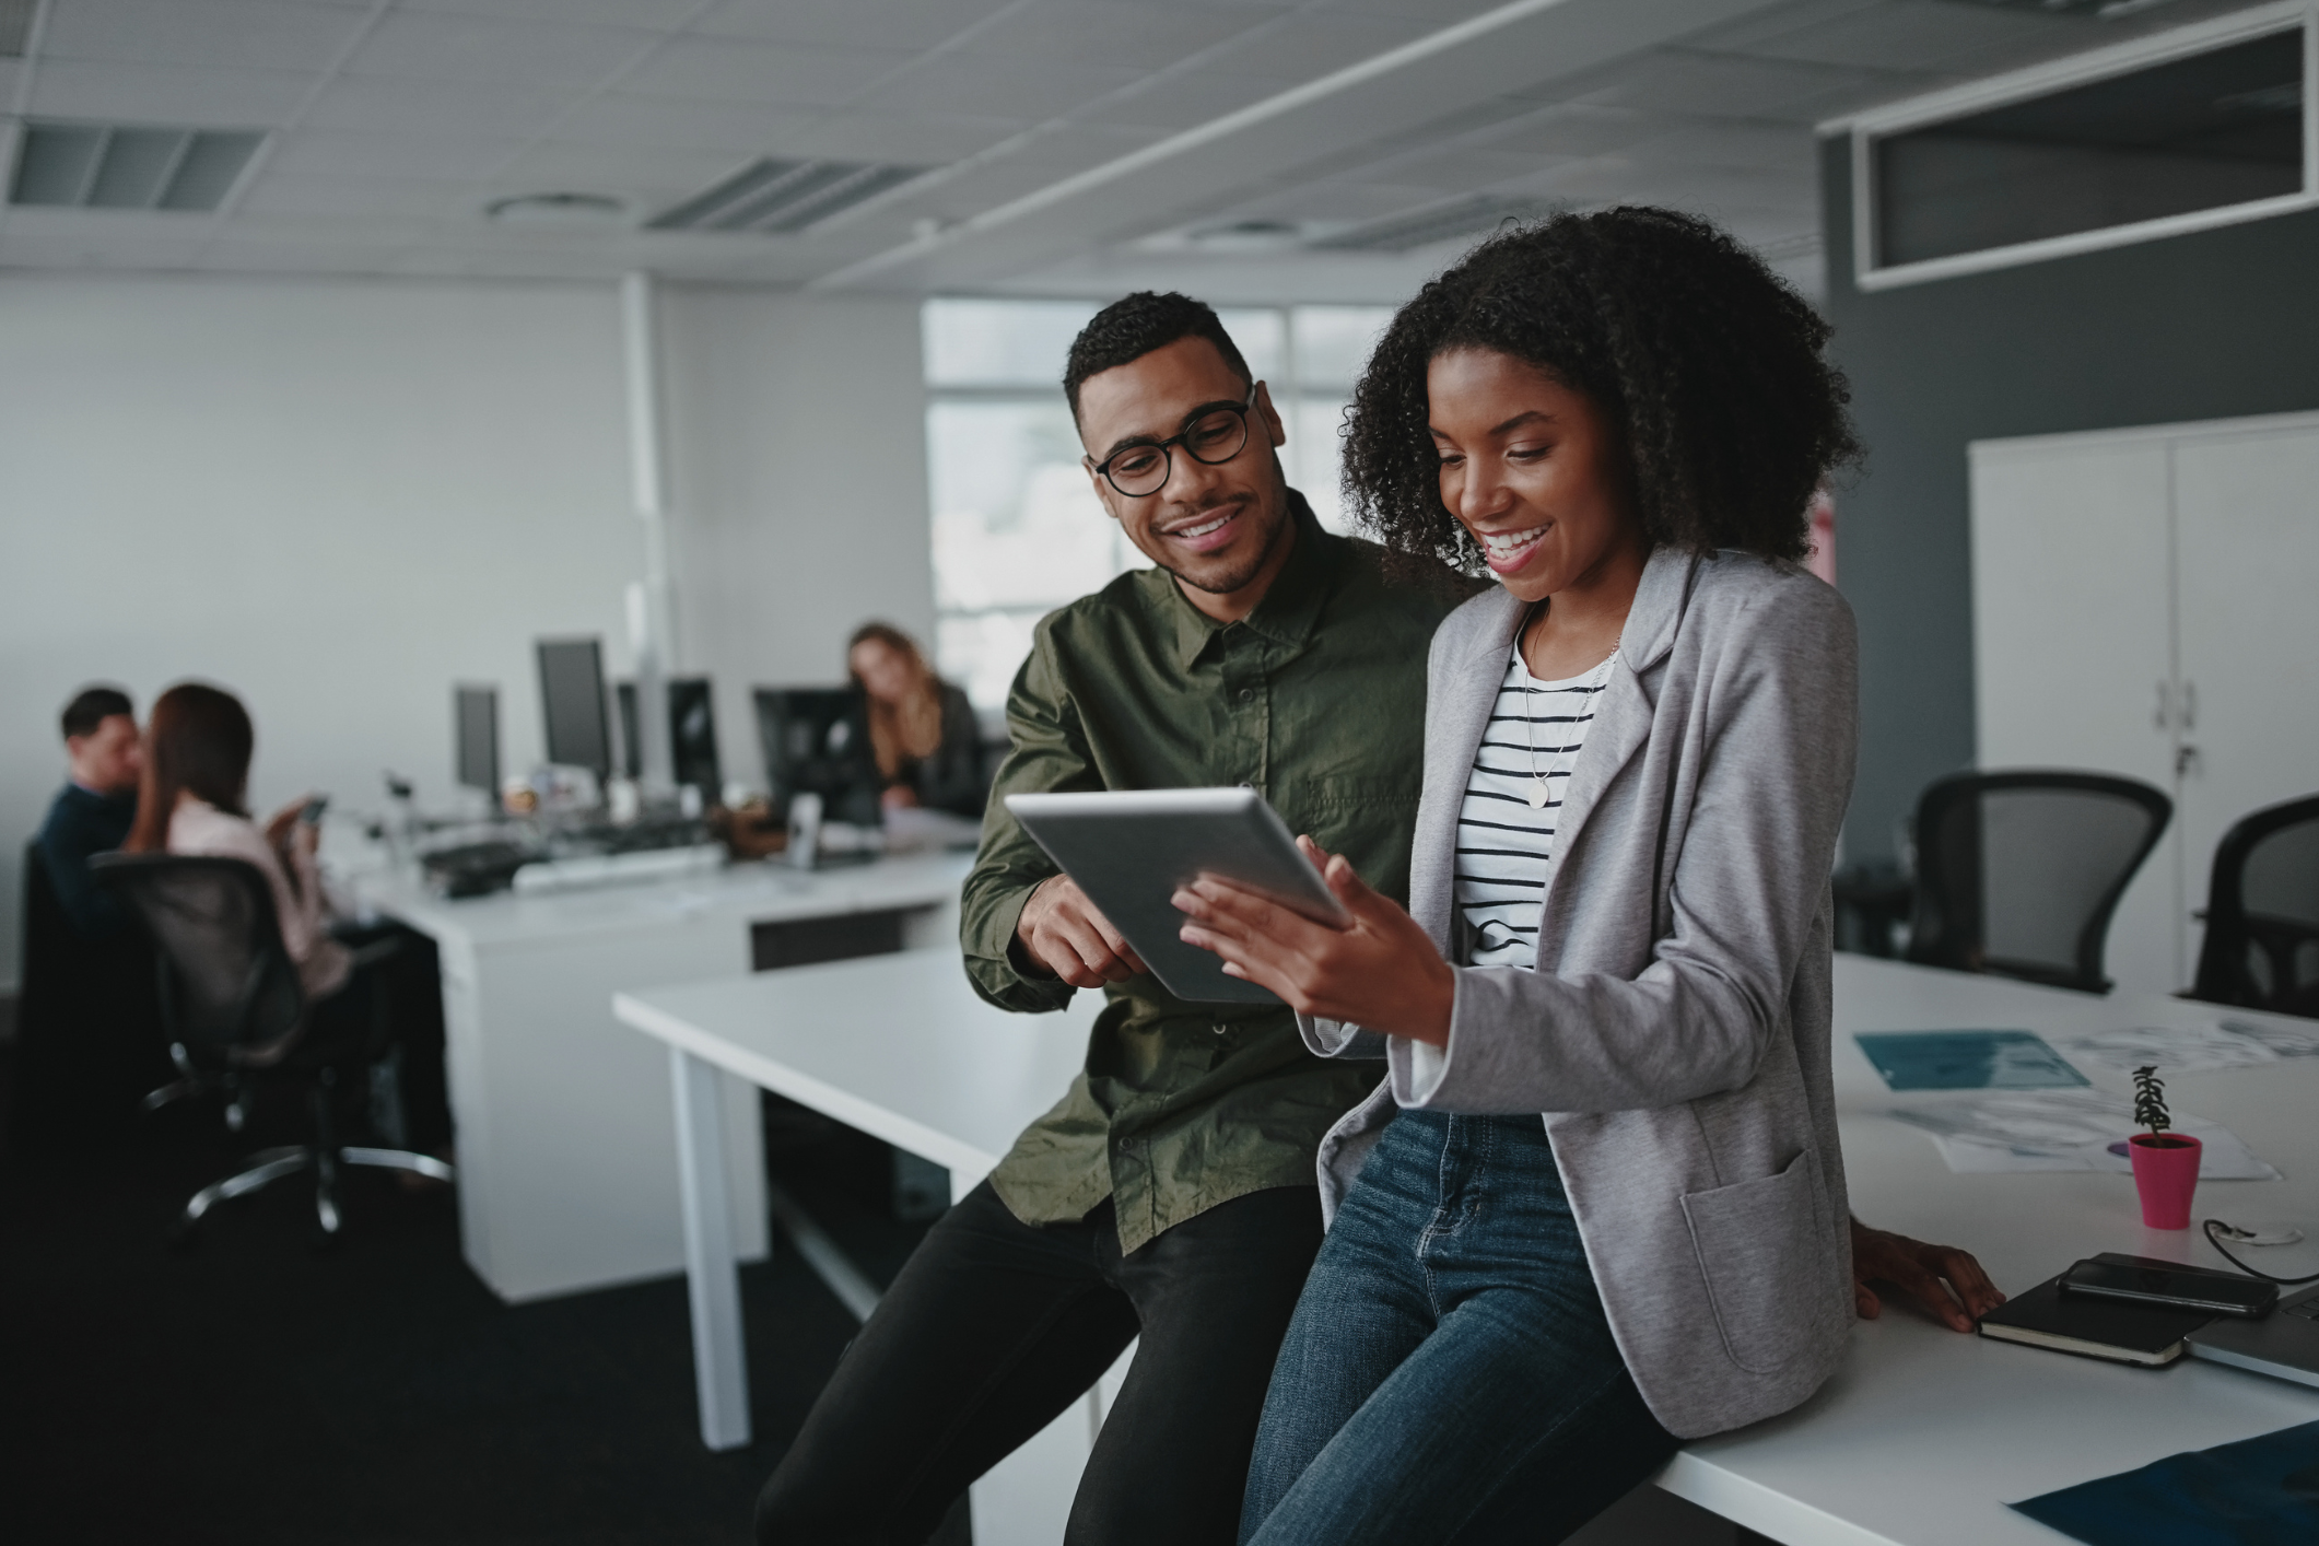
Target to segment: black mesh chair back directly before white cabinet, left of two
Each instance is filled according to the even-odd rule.
[[[1934,779],[1915,807],[1909,960],[2108,992],[2110,913],[2171,818],[2173,800],[2113,774]]]

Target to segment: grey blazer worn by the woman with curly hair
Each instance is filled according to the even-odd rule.
[[[1524,605],[1433,635],[1410,913],[1452,960],[1456,811]],[[1827,1073],[1830,885],[1858,732],[1853,614],[1793,563],[1660,547],[1595,702],[1537,971],[1456,971],[1449,1045],[1299,1018],[1389,1073],[1322,1140],[1322,1208],[1394,1108],[1544,1113],[1642,1398],[1693,1439],[1786,1412],[1853,1321]]]

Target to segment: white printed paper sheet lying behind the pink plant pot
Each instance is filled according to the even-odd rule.
[[[2133,1131],[2133,1103],[2101,1089],[2022,1089],[1983,1094],[1890,1113],[1925,1129],[1957,1175],[2011,1171],[2110,1171],[2131,1175],[2133,1161],[2110,1145]],[[2173,1131],[2203,1145],[2198,1180],[2280,1180],[2280,1173],[2219,1122],[2173,1113]]]

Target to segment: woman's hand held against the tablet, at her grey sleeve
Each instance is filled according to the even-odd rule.
[[[1350,925],[1313,923],[1204,874],[1173,897],[1192,918],[1183,941],[1224,957],[1229,976],[1271,987],[1306,1015],[1447,1045],[1456,997],[1449,962],[1408,911],[1361,883],[1343,853],[1322,853],[1310,837],[1296,846],[1352,913]]]

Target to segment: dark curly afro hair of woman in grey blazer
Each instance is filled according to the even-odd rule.
[[[1651,542],[1800,559],[1807,505],[1860,454],[1830,327],[1707,220],[1670,209],[1554,216],[1491,236],[1401,308],[1345,413],[1354,519],[1410,561],[1480,575],[1440,498],[1426,366],[1454,350],[1526,359],[1605,413]]]

